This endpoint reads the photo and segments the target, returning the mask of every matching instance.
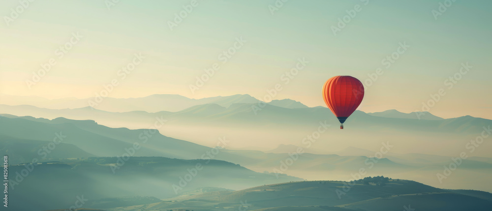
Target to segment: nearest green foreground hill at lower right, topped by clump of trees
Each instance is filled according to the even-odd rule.
[[[404,206],[419,211],[478,211],[492,205],[491,193],[468,190],[468,193],[461,194],[453,191],[406,180],[390,180],[385,186],[301,181],[181,196],[109,211],[232,211],[238,208],[251,211],[398,211],[404,210]]]

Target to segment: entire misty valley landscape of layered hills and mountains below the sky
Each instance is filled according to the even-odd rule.
[[[492,205],[492,194],[485,192],[492,190],[487,181],[492,176],[492,158],[478,156],[482,152],[477,143],[456,138],[479,134],[487,140],[490,130],[482,125],[490,120],[442,119],[430,113],[426,116],[431,119],[418,120],[415,114],[395,110],[358,111],[345,130],[366,131],[351,137],[363,138],[373,145],[366,149],[374,151],[350,144],[339,151],[330,151],[334,147],[322,151],[322,146],[340,138],[339,129],[332,126],[337,120],[325,114],[326,108],[308,108],[286,99],[267,104],[255,114],[252,106],[257,103],[248,102],[251,98],[220,97],[165,113],[2,105],[9,113],[0,117],[0,146],[9,154],[9,204],[19,210],[107,211],[375,211],[381,210],[379,201],[388,210],[404,210],[403,206],[432,210],[437,207],[419,205],[433,200],[446,203],[448,210],[463,210],[462,204],[471,208],[470,203],[477,209]],[[21,113],[32,117],[14,116]],[[370,128],[365,122],[372,122]],[[209,128],[207,133],[191,132],[201,125]],[[167,127],[189,130],[169,132]],[[245,136],[238,128],[251,134]],[[254,137],[265,128],[280,141]],[[407,139],[418,144],[419,136],[410,137],[415,132],[409,130],[423,128],[426,137],[449,137],[431,141],[458,141],[455,149],[462,153],[426,154],[426,144],[395,150]],[[236,134],[220,136],[226,129]],[[304,134],[292,138],[286,130]],[[401,140],[377,138],[374,131],[383,130],[399,134]],[[460,132],[453,133],[456,130]],[[217,138],[192,143],[169,133],[189,140],[202,134]],[[265,144],[277,146],[247,149],[235,145],[238,138],[254,141],[251,145],[268,141]],[[463,184],[461,177],[473,178],[477,185]],[[22,203],[27,199],[31,203]]]

